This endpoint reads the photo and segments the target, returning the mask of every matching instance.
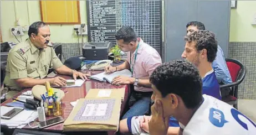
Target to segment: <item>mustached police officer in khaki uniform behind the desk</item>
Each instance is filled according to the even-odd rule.
[[[6,77],[4,79],[4,92],[7,99],[16,95],[25,87],[44,85],[48,70],[53,68],[58,74],[73,75],[87,79],[87,74],[71,70],[62,64],[56,56],[55,51],[48,45],[50,40],[50,29],[44,22],[35,22],[28,30],[29,38],[23,43],[14,46],[8,54]],[[63,77],[48,79],[51,85],[65,86]]]

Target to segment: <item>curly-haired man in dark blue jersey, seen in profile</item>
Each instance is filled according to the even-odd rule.
[[[187,61],[193,63],[199,70],[203,82],[203,94],[221,99],[219,84],[211,64],[217,53],[217,41],[214,34],[207,30],[200,30],[187,35],[185,41],[186,45],[182,58],[186,58]],[[150,120],[151,116],[144,116],[144,118]],[[121,123],[126,121],[122,120]],[[120,129],[127,127],[127,124],[120,124]],[[179,126],[178,121],[170,117],[169,126],[172,129],[171,131],[175,133],[178,129],[175,127]],[[149,125],[145,124],[142,129],[148,131]]]

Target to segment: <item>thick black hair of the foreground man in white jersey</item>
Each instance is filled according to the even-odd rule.
[[[180,96],[187,108],[196,107],[202,101],[202,79],[196,66],[187,60],[174,60],[158,66],[150,76],[150,82],[161,92]]]

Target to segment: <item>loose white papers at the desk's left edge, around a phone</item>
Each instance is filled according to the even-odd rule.
[[[1,106],[1,116],[12,110],[13,107]],[[23,128],[29,122],[34,121],[38,118],[37,111],[23,110],[19,112],[16,116],[12,117],[10,120],[4,120],[1,118],[1,124],[5,124],[9,128]]]

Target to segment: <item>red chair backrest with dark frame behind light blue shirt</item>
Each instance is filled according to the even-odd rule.
[[[226,63],[229,73],[231,74],[232,81],[237,81],[240,84],[246,74],[245,66],[240,61],[230,58],[226,58]]]

